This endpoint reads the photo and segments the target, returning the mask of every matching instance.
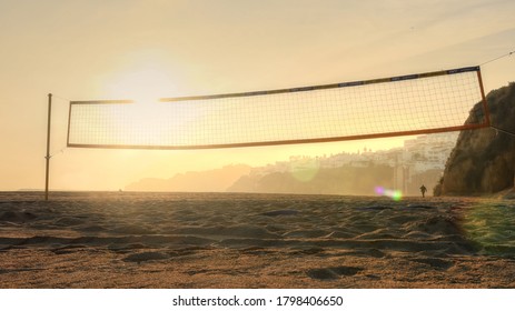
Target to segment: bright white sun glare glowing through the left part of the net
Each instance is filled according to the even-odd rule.
[[[129,56],[118,70],[101,83],[102,98],[107,100],[131,100],[130,104],[105,107],[102,113],[112,126],[99,124],[106,140],[112,144],[136,143],[159,146],[174,120],[165,119],[166,109],[160,98],[176,92],[176,81],[167,62],[155,52],[140,51]],[[177,120],[176,120],[177,121]],[[176,122],[177,123],[177,122]]]

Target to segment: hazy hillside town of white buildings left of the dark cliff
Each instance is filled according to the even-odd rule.
[[[250,177],[258,178],[273,173],[337,169],[343,167],[370,168],[386,165],[393,169],[392,188],[405,194],[416,195],[419,187],[432,190],[442,177],[445,163],[456,146],[458,132],[418,136],[407,139],[404,147],[388,150],[367,149],[321,157],[290,157],[266,167],[252,168]],[[430,191],[429,191],[430,192]]]

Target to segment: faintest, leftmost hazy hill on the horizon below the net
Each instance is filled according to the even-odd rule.
[[[127,185],[125,190],[224,192],[241,175],[248,174],[249,172],[249,165],[235,164],[202,172],[179,173],[170,179],[146,178]]]

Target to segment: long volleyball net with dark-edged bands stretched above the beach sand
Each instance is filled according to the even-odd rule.
[[[479,68],[297,89],[70,102],[69,147],[194,149],[442,132],[487,122]],[[464,124],[469,113],[477,123]]]

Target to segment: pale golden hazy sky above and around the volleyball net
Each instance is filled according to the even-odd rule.
[[[515,50],[513,0],[0,0],[0,191],[118,190],[230,163],[402,146],[402,139],[192,151],[66,148],[70,100],[293,88],[482,64]],[[514,81],[515,56],[482,67]]]

